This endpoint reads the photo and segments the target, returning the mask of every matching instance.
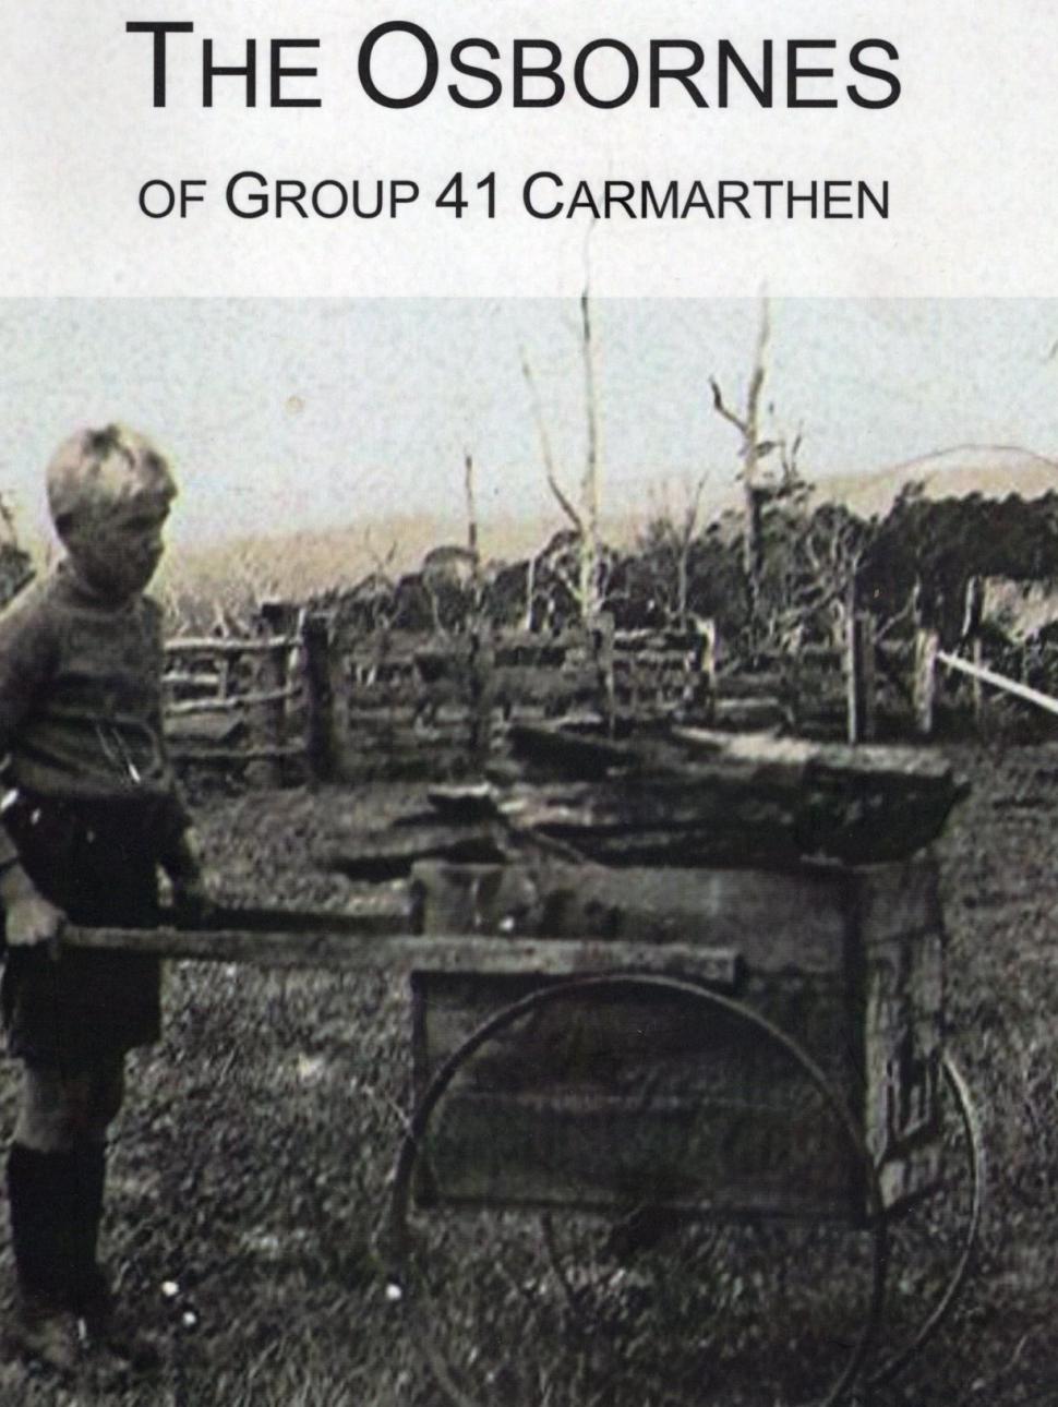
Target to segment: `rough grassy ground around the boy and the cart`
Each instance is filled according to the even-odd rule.
[[[972,792],[940,846],[950,1048],[981,1110],[989,1193],[967,1292],[898,1383],[861,1397],[878,1407],[1058,1401],[1058,747],[967,747],[952,760]],[[314,857],[336,829],[378,823],[408,796],[207,799],[198,815],[214,888],[229,902],[340,909],[353,888]],[[8,1128],[15,1076],[0,1069]],[[400,976],[174,965],[166,1037],[134,1057],[129,1089],[107,1252],[122,1297],[159,1335],[163,1370],[145,1383],[86,1373],[58,1384],[7,1363],[0,1401],[438,1403],[381,1262],[409,1107]],[[10,1276],[6,1251],[0,1271]]]

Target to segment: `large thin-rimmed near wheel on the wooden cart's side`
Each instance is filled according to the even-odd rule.
[[[431,1140],[453,1081],[490,1043],[559,1003],[646,998],[703,1030],[740,1029],[798,1090],[799,1127],[827,1124],[872,1216],[688,1216],[649,1200],[459,1207],[431,1190]],[[748,1027],[748,1030],[746,1030]],[[644,1092],[664,1102],[665,1090]],[[767,1092],[764,1095],[767,1099]],[[757,1100],[754,1100],[754,1110]],[[784,1106],[785,1107],[785,1106]],[[701,1137],[702,1128],[692,1130]],[[782,1169],[777,1169],[781,1188]],[[423,1192],[426,1196],[423,1196]],[[782,1211],[781,1196],[775,1199]],[[423,1204],[425,1203],[425,1204]],[[459,1407],[833,1407],[877,1328],[886,1271],[881,1193],[862,1137],[815,1062],[761,1016],[692,982],[597,976],[539,988],[484,1021],[438,1068],[402,1140],[390,1204],[390,1294]]]

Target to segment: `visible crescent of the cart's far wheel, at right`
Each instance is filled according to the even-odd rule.
[[[922,1203],[889,1220],[889,1297],[878,1335],[878,1362],[867,1369],[872,1387],[896,1377],[941,1327],[965,1283],[981,1227],[981,1117],[950,1055],[941,1061],[941,1071],[944,1178]]]

